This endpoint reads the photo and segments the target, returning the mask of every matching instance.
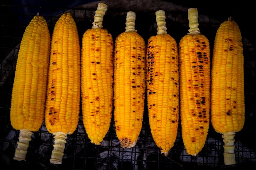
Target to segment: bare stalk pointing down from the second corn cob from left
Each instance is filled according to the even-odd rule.
[[[64,155],[65,143],[67,143],[67,134],[63,132],[54,132],[54,145],[50,163],[61,164]]]

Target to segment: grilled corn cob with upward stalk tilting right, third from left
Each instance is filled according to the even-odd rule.
[[[93,144],[100,144],[110,127],[113,102],[113,39],[103,29],[108,6],[98,4],[92,29],[83,34],[81,92],[83,124]]]

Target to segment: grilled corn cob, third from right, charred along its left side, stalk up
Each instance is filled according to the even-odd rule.
[[[147,44],[148,117],[153,139],[168,155],[179,124],[179,61],[177,43],[167,33],[165,11],[156,11],[157,35]]]

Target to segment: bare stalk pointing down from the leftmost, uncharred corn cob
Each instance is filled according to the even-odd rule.
[[[30,130],[22,129],[20,130],[18,146],[15,150],[13,159],[18,161],[26,161],[27,148],[29,147],[29,141],[31,141],[31,135],[33,133]]]

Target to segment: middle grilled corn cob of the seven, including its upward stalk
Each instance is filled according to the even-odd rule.
[[[122,148],[136,145],[141,131],[146,91],[146,45],[135,30],[135,12],[126,16],[126,30],[115,41],[114,120]]]

